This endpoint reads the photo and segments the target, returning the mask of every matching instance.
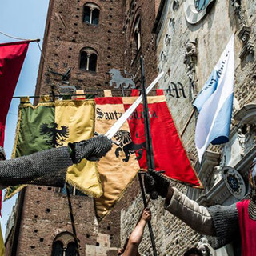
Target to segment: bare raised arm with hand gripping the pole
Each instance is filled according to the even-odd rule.
[[[122,248],[118,250],[119,256],[145,256],[139,253],[138,246],[142,242],[142,236],[146,223],[151,219],[151,212],[149,208],[145,208],[142,212],[142,217],[131,232],[130,237],[126,239],[126,242]]]

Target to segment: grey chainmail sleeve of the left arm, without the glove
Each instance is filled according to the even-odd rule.
[[[67,146],[0,162],[0,185],[62,186],[73,162]]]

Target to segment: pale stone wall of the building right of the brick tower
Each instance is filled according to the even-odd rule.
[[[240,107],[249,103],[255,103],[255,59],[252,54],[245,58],[239,58],[242,50],[242,42],[238,38],[238,17],[234,13],[234,7],[230,1],[216,2],[211,8],[206,18],[202,19],[196,25],[190,25],[186,22],[184,16],[183,4],[185,1],[177,1],[180,3],[178,8],[173,8],[173,1],[166,1],[165,7],[162,10],[162,19],[158,24],[157,42],[157,58],[158,71],[164,71],[165,77],[159,82],[159,87],[167,89],[171,82],[180,82],[184,86],[186,97],[175,97],[167,95],[168,106],[173,115],[174,122],[178,131],[182,133],[190,114],[193,111],[192,101],[194,98],[189,98],[189,74],[186,65],[184,64],[184,54],[186,52],[186,42],[192,41],[196,43],[197,62],[196,82],[198,90],[209,77],[214,69],[218,58],[222,54],[226,43],[228,42],[232,32],[234,32],[234,51],[235,51],[235,86],[234,96],[238,100]],[[242,3],[242,10],[245,16],[248,17],[248,24],[251,26],[251,42],[255,46],[256,34],[255,28],[252,26],[255,22],[255,5],[252,1]],[[225,27],[225,29],[223,29]],[[169,37],[167,37],[169,36]],[[234,111],[235,113],[235,111]],[[194,130],[198,114],[194,114],[187,126],[182,140],[188,152],[192,163],[196,164],[197,153],[194,146]],[[209,146],[208,150],[221,153],[222,146]],[[226,149],[230,150],[230,149]],[[198,165],[199,166],[199,165]],[[199,166],[200,167],[200,166]],[[210,176],[210,179],[212,177]],[[212,189],[213,185],[209,178],[203,179],[206,190],[195,193],[198,196],[206,194],[206,191]],[[211,185],[209,185],[211,184]],[[210,186],[210,187],[209,187]],[[187,188],[182,185],[177,186],[179,190],[187,193]],[[191,189],[190,189],[191,192]],[[222,195],[221,195],[222,197]],[[235,202],[230,200],[230,202]],[[134,201],[127,208],[122,210],[121,217],[121,235],[122,241],[130,234],[134,224],[133,218],[138,219],[140,210],[142,209],[142,198],[140,194],[134,198]],[[152,226],[154,229],[155,241],[157,244],[158,255],[182,255],[184,251],[192,246],[198,246],[200,235],[196,234],[188,226],[175,218],[163,208],[163,202],[158,199],[156,202],[150,202],[152,210]],[[124,221],[122,221],[124,220]],[[146,230],[140,250],[143,254],[153,255],[150,247],[150,238]],[[219,252],[218,255],[224,255]],[[228,255],[228,254],[225,254]]]

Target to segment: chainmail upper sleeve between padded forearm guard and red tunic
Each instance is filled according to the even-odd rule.
[[[207,238],[214,249],[225,246],[238,238],[240,231],[236,204],[210,206],[208,211],[214,221],[216,237],[207,236]]]

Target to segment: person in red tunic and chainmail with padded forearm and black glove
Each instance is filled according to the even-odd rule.
[[[165,200],[165,209],[199,234],[207,236],[218,249],[230,242],[241,242],[242,256],[256,253],[256,158],[250,166],[250,199],[231,206],[199,206],[171,186],[170,180],[152,170],[155,189]]]

